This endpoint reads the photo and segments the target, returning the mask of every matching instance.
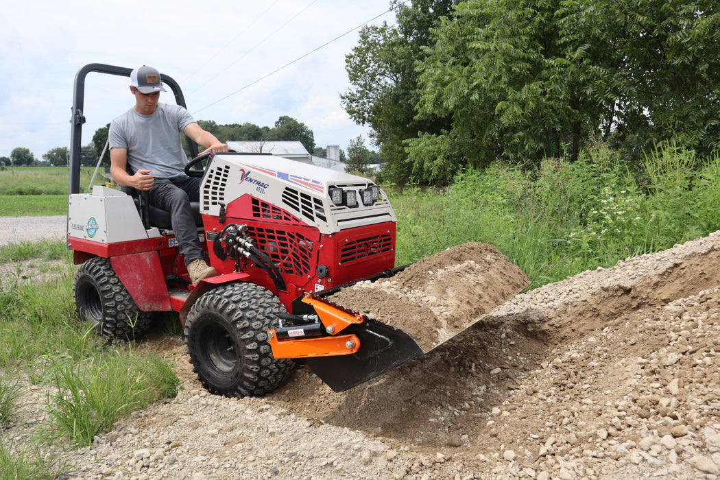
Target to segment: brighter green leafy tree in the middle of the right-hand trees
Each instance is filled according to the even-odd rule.
[[[586,61],[592,46],[578,49],[564,36],[563,3],[468,1],[434,31],[418,65],[418,115],[447,115],[452,127],[410,140],[418,177],[447,181],[498,158],[577,158],[603,106],[585,93],[598,69]]]

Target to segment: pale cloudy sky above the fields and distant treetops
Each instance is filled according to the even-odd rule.
[[[390,0],[6,3],[0,156],[24,147],[42,160],[51,148],[70,146],[73,82],[89,63],[157,68],[179,83],[195,119],[273,127],[288,115],[312,130],[318,147],[347,150],[362,135],[374,148],[340,94],[350,88],[345,56],[357,45],[356,27],[394,23]],[[82,145],[132,107],[129,84],[126,77],[89,73]],[[167,90],[161,101],[174,103]]]

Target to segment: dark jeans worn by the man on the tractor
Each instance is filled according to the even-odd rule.
[[[203,258],[202,245],[197,237],[197,226],[190,208],[191,201],[200,199],[200,178],[174,177],[156,178],[150,190],[150,204],[170,212],[175,237],[180,247],[180,255],[185,265]]]

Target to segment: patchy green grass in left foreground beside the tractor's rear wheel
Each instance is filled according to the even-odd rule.
[[[72,271],[62,242],[23,243],[0,248],[0,258],[59,257]],[[37,255],[34,257],[33,255]],[[28,278],[29,277],[29,278]],[[35,281],[18,270],[0,282],[0,480],[53,479],[66,471],[72,452],[58,457],[38,452],[57,440],[90,445],[95,435],[122,415],[161,399],[174,397],[179,379],[172,366],[135,344],[108,344],[78,319],[72,296],[73,276]],[[14,438],[18,375],[51,393],[44,409],[50,420],[38,425],[24,443]],[[42,407],[42,406],[41,406]]]

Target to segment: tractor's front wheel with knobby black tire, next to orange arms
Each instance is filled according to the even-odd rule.
[[[185,321],[185,343],[202,385],[225,397],[260,397],[280,386],[294,362],[272,356],[267,330],[284,312],[256,284],[223,285],[200,296]]]

